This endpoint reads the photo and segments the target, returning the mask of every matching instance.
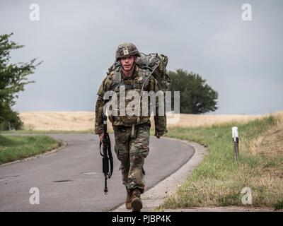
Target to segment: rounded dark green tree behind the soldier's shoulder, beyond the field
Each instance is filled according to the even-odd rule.
[[[169,77],[171,92],[180,91],[180,113],[202,114],[218,109],[218,93],[198,74],[178,69],[176,72],[169,71]]]

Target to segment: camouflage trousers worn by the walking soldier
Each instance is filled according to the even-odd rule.
[[[122,182],[127,189],[141,189],[144,192],[144,159],[149,155],[150,122],[132,127],[113,126],[115,153],[121,162]]]

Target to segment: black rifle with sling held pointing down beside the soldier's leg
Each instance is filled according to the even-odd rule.
[[[111,153],[111,143],[110,143],[110,138],[109,138],[109,133],[107,131],[107,117],[105,114],[103,116],[103,141],[99,143],[99,151],[100,155],[103,157],[102,158],[102,168],[103,168],[103,173],[104,173],[104,194],[108,194],[108,188],[107,188],[107,179],[110,179],[112,176],[113,172],[113,157]],[[101,145],[103,144],[103,153],[101,153]],[[110,171],[109,171],[109,162],[110,162]]]

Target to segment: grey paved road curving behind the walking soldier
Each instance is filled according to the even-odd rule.
[[[90,134],[54,134],[67,148],[33,160],[0,167],[0,211],[109,211],[125,201],[125,187],[114,153],[114,172],[103,194],[98,138]],[[114,144],[111,137],[112,144]],[[113,149],[113,148],[112,148]],[[146,157],[146,189],[168,177],[194,153],[190,145],[151,137]],[[40,190],[40,204],[29,202],[30,188]]]

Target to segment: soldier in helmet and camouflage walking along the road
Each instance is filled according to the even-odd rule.
[[[107,76],[98,89],[98,100],[96,102],[95,133],[103,139],[103,106],[107,100],[103,96],[107,91],[112,90],[119,97],[121,87],[123,86],[125,94],[130,91],[154,91],[158,92],[157,81],[154,76],[149,76],[149,71],[140,69],[135,64],[137,57],[140,57],[137,47],[132,43],[123,43],[117,47],[116,64],[110,68]],[[144,101],[144,100],[143,100]],[[125,98],[125,106],[129,100]],[[141,104],[141,103],[139,103]],[[150,102],[148,102],[150,106]],[[125,109],[119,109],[117,112],[125,112]],[[149,107],[148,106],[148,107]],[[155,106],[156,114],[158,112],[158,98]],[[110,115],[108,118],[112,122],[115,136],[115,153],[120,160],[120,169],[122,172],[122,182],[127,190],[126,208],[132,211],[140,211],[142,202],[140,195],[144,192],[144,160],[149,154],[149,129],[151,121],[148,115]],[[155,136],[160,138],[166,129],[166,117],[154,115]]]

